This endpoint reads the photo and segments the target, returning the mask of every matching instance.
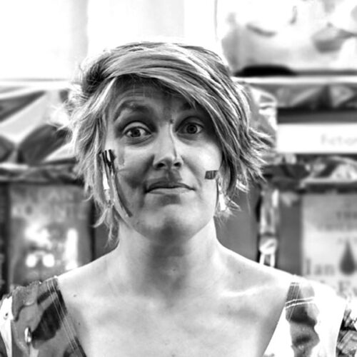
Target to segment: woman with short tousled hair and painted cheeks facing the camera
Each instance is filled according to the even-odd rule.
[[[213,217],[261,176],[264,145],[216,54],[119,46],[89,64],[69,108],[86,188],[119,243],[4,298],[4,356],[335,356],[341,321],[340,339],[356,338],[330,289],[218,243]]]

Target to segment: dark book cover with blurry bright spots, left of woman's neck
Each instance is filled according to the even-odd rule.
[[[10,290],[93,259],[92,207],[81,186],[9,183],[6,192]]]

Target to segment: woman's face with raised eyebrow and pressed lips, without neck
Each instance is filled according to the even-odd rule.
[[[213,218],[221,166],[211,119],[180,96],[129,89],[109,109],[106,149],[114,151],[123,221],[144,236],[193,236]]]

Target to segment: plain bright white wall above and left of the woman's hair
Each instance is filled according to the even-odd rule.
[[[214,48],[214,0],[0,1],[0,79],[71,79],[87,55],[128,41]]]

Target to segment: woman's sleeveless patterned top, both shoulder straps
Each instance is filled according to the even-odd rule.
[[[350,357],[356,351],[356,301],[341,298],[328,286],[294,276],[262,357]],[[0,356],[86,356],[56,277],[4,296]]]

